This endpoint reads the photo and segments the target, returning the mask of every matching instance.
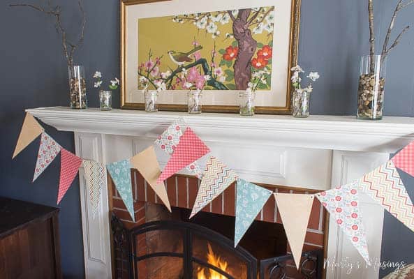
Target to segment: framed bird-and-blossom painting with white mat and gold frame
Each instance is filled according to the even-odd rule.
[[[188,82],[203,112],[238,112],[252,77],[256,113],[290,113],[300,0],[122,0],[121,108],[186,111]]]

